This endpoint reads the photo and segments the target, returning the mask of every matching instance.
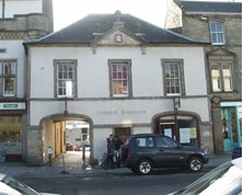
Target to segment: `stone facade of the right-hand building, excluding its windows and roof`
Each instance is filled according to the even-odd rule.
[[[211,42],[210,35],[210,22],[217,21],[223,24],[224,43],[223,44],[211,44],[205,47],[207,58],[207,83],[208,94],[211,99],[211,116],[213,122],[213,142],[215,151],[223,152],[225,149],[225,138],[222,136],[222,114],[225,108],[235,110],[236,113],[236,133],[238,133],[238,145],[232,141],[232,134],[229,135],[231,139],[231,147],[228,151],[234,147],[241,146],[241,102],[242,102],[242,13],[239,11],[221,12],[217,9],[213,12],[209,10],[192,11],[185,8],[183,1],[170,0],[169,7],[170,15],[174,18],[167,19],[165,26],[172,31],[181,32],[183,35],[188,36],[193,39],[202,39]],[[216,3],[216,2],[215,2]],[[234,3],[234,2],[228,2]],[[196,4],[195,4],[196,5]],[[223,4],[220,4],[223,5]],[[192,7],[189,8],[192,9]],[[197,8],[198,9],[198,8]],[[178,24],[182,24],[181,26]],[[211,65],[212,64],[232,64],[232,90],[231,91],[213,91],[212,88],[212,76]],[[224,107],[223,107],[224,106]],[[225,114],[229,119],[232,119],[232,114]],[[234,115],[234,114],[233,114]],[[229,122],[228,119],[228,122]],[[228,124],[229,125],[229,124]],[[234,122],[232,119],[230,128],[233,127]],[[236,139],[235,139],[236,140]]]

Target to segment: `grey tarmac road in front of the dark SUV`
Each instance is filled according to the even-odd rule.
[[[207,173],[182,172],[166,170],[153,175],[62,175],[62,176],[20,176],[18,180],[26,183],[38,192],[57,193],[61,195],[165,195],[177,191]]]

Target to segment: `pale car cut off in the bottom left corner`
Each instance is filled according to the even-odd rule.
[[[24,183],[0,173],[0,195],[57,195],[48,193],[37,193]]]

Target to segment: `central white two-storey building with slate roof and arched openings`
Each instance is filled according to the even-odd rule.
[[[212,152],[208,45],[119,11],[26,42],[27,160],[65,151],[71,121],[89,126],[92,159],[111,134],[163,134]]]

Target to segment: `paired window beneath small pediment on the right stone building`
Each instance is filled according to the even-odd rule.
[[[211,85],[213,92],[233,91],[231,64],[211,64]]]

